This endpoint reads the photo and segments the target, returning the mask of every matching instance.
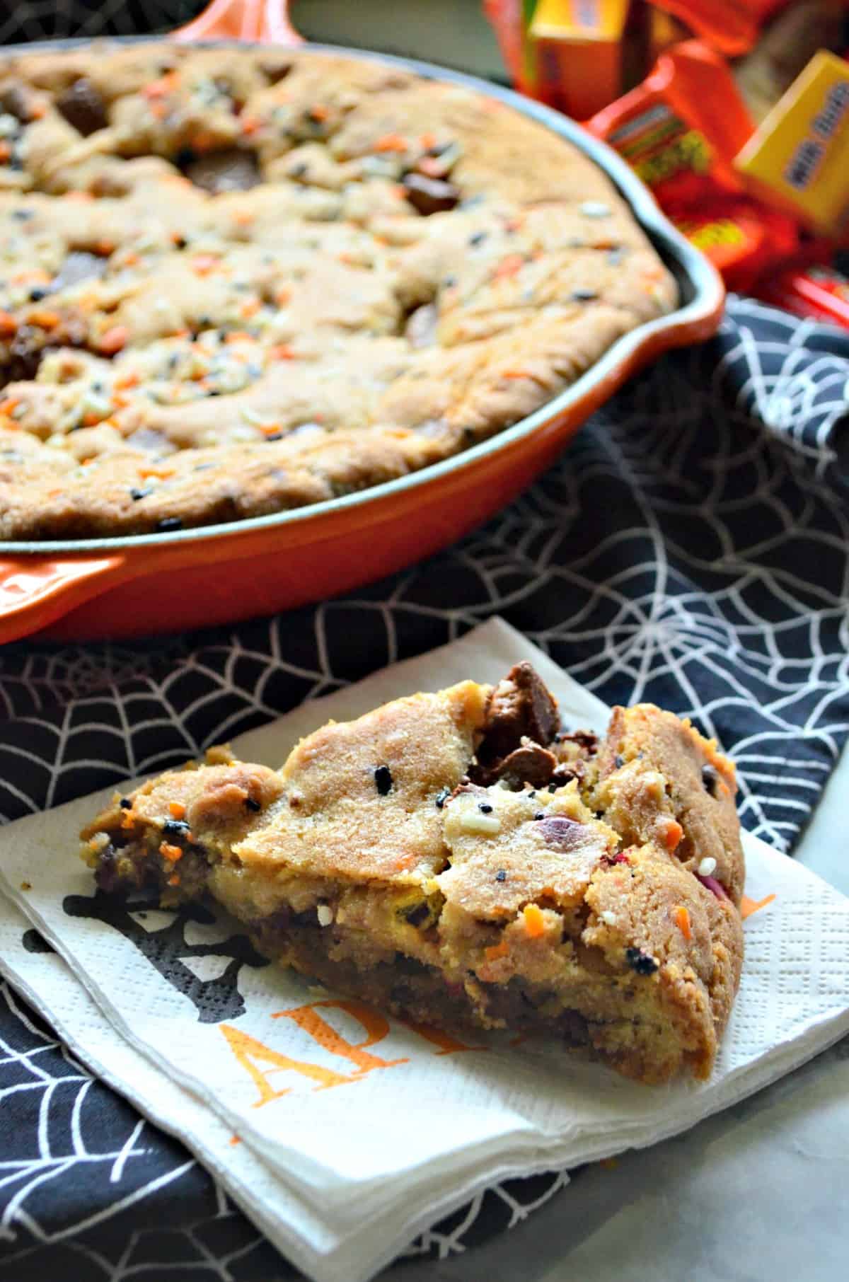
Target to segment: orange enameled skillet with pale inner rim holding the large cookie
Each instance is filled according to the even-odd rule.
[[[176,38],[301,42],[289,23],[286,0],[213,0]],[[354,50],[345,53],[358,56]],[[625,335],[528,418],[400,479],[226,526],[0,545],[0,642],[32,633],[83,640],[204,627],[272,614],[381,578],[486,520],[557,459],[580,424],[627,378],[667,349],[716,331],[723,303],[719,277],[603,142],[557,112],[471,76],[381,54],[359,56],[468,85],[573,142],[631,205],[676,274],[681,305]]]

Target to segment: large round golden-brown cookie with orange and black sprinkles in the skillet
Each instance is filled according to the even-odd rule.
[[[155,42],[0,63],[0,538],[391,479],[676,301],[607,177],[466,87]]]

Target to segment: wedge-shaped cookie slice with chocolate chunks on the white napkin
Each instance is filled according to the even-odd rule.
[[[743,956],[732,785],[650,705],[600,745],[564,735],[517,664],[331,722],[281,770],[215,750],[117,796],[82,854],[103,892],[209,895],[265,955],[404,1018],[704,1078]]]

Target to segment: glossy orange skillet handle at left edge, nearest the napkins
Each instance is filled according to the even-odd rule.
[[[19,641],[122,578],[123,556],[0,559],[0,645]]]

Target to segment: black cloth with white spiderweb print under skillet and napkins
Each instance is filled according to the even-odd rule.
[[[9,646],[0,814],[182,762],[498,613],[607,701],[718,735],[743,822],[789,851],[849,732],[848,394],[849,337],[731,299],[714,341],[634,381],[531,491],[421,565],[232,631]],[[3,996],[4,1282],[292,1276],[180,1144]],[[487,1192],[414,1250],[472,1245],[560,1185]]]

